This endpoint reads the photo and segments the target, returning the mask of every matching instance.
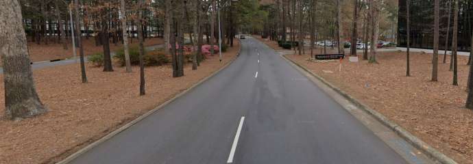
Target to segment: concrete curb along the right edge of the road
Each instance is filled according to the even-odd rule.
[[[363,109],[363,111],[369,113],[370,115],[373,115],[376,120],[380,121],[383,123],[385,126],[388,128],[391,128],[392,131],[394,131],[396,134],[400,135],[400,137],[406,139],[409,143],[411,143],[415,148],[418,148],[422,152],[424,152],[427,156],[429,156],[431,159],[438,161],[439,163],[443,164],[457,164],[453,159],[450,159],[448,156],[445,154],[439,152],[432,146],[429,146],[427,143],[424,141],[420,140],[419,138],[415,137],[408,131],[406,131],[404,128],[396,124],[395,122],[389,120],[386,118],[383,114],[378,113],[378,111],[374,111],[374,109],[369,108],[367,105],[363,104],[362,102],[359,102],[349,94],[346,94],[342,90],[340,90],[338,87],[335,85],[332,85],[330,82],[326,81],[324,78],[319,77],[317,74],[313,73],[311,70],[308,70],[308,68],[296,63],[292,59],[289,59],[286,55],[280,55],[283,59],[288,61],[289,63],[293,64],[293,66],[298,66],[302,70],[308,72],[308,74],[311,74],[313,77],[317,78],[319,81],[322,81],[322,83],[328,85],[328,87],[332,88],[332,90],[335,90],[335,92],[339,93],[341,96],[344,98],[348,99],[350,102],[352,102],[354,105],[358,106],[359,108]]]

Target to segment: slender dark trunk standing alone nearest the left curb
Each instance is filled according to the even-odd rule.
[[[145,56],[145,46],[143,42],[145,39],[143,38],[143,8],[144,4],[143,1],[145,0],[138,0],[138,42],[139,46],[139,60],[140,60],[140,96],[145,95],[145,61],[143,61],[143,57]]]

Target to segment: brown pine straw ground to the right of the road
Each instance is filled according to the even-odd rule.
[[[319,50],[315,51],[319,53]],[[386,52],[378,64],[291,59],[330,81],[341,90],[382,113],[415,136],[459,163],[473,163],[473,111],[465,109],[468,57],[459,57],[459,86],[452,85],[449,64],[439,56],[439,81],[431,82],[431,55],[411,55],[411,77],[406,77],[406,55]],[[450,57],[450,56],[448,56]]]

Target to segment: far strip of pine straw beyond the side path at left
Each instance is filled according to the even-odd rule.
[[[130,42],[132,38],[128,39]],[[95,46],[95,40],[93,37],[86,39],[85,37],[82,38],[82,42],[84,44],[84,55],[92,55],[94,53],[99,53],[104,51],[102,46]],[[156,44],[163,44],[164,41],[162,38],[148,38],[145,40],[145,46],[151,46]],[[133,39],[133,42],[129,43],[130,47],[138,46],[138,40],[136,38]],[[68,40],[67,46],[69,49],[64,50],[62,48],[62,44],[49,42],[49,44],[36,44],[35,42],[28,42],[28,51],[29,56],[31,57],[32,61],[47,61],[52,59],[66,59],[73,57],[73,47],[70,40]],[[121,42],[117,42],[117,44],[113,44],[110,42],[110,51],[117,51],[121,49],[123,45]],[[79,49],[77,51],[77,56],[79,56]]]

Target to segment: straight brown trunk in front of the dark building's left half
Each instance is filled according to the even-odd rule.
[[[432,81],[438,81],[437,72],[439,65],[439,0],[435,0],[434,20],[434,53],[432,56]]]

